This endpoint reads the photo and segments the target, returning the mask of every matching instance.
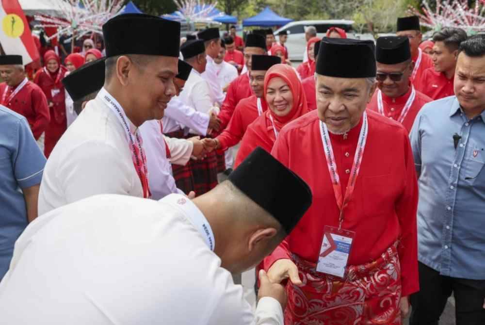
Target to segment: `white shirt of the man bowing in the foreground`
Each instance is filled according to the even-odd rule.
[[[210,224],[183,195],[96,195],[34,220],[0,283],[4,324],[283,324],[221,267]],[[32,272],[34,270],[35,272]]]

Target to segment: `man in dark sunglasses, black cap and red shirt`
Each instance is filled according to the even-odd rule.
[[[401,123],[408,132],[424,104],[432,101],[410,81],[414,62],[409,40],[403,36],[379,37],[376,42],[377,89],[367,109]]]

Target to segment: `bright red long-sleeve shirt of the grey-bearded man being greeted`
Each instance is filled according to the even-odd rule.
[[[349,265],[377,259],[399,241],[402,294],[419,290],[417,224],[418,186],[407,131],[372,111],[369,133],[354,195],[344,210],[343,229],[356,232]],[[360,124],[344,135],[330,133],[337,170],[345,193],[354,161]],[[316,262],[324,226],[339,226],[339,207],[327,168],[320,120],[312,111],[281,130],[272,154],[304,179],[313,203],[291,234],[264,260],[264,268],[297,254]],[[291,190],[291,189],[289,189]]]

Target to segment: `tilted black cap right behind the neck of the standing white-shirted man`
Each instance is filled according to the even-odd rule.
[[[63,80],[65,90],[73,101],[98,92],[104,85],[105,58],[82,65],[68,74]]]

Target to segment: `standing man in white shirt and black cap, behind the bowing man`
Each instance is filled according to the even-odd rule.
[[[40,213],[95,194],[150,197],[138,127],[161,119],[175,95],[179,34],[178,22],[142,14],[119,15],[103,25],[104,86],[52,151]]]

